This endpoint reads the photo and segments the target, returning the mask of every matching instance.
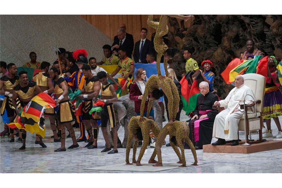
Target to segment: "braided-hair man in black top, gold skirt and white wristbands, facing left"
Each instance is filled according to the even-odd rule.
[[[49,75],[52,80],[54,80],[54,87],[52,89],[48,89],[47,93],[54,92],[56,94],[55,104],[59,104],[58,110],[58,128],[60,132],[61,139],[61,147],[56,149],[55,152],[66,151],[65,148],[65,127],[67,127],[70,137],[72,138],[72,145],[68,147],[68,149],[79,147],[74,129],[72,128],[71,122],[74,121],[74,107],[70,103],[68,98],[68,86],[62,77],[59,76],[59,70],[55,67],[50,68]]]

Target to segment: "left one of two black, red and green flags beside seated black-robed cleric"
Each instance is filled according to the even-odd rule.
[[[181,100],[183,103],[183,110],[186,112],[186,115],[188,115],[189,113],[187,113],[188,111],[188,102],[189,102],[189,94],[190,94],[190,90],[192,87],[192,83],[193,83],[193,79],[192,79],[192,75],[194,74],[194,71],[189,71],[185,74],[185,76],[180,80],[180,84],[181,84]]]

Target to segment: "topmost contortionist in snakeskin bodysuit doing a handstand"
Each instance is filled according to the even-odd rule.
[[[148,25],[151,26],[154,29],[157,29],[156,31],[156,35],[154,38],[154,46],[155,46],[155,50],[158,52],[157,55],[157,71],[158,71],[158,76],[161,75],[160,72],[160,60],[162,55],[164,55],[164,70],[165,70],[165,74],[166,76],[169,76],[168,73],[168,59],[172,59],[174,57],[174,55],[179,52],[178,48],[173,47],[173,48],[169,48],[165,43],[164,43],[164,39],[162,38],[164,35],[166,35],[168,33],[168,26],[167,26],[167,19],[168,16],[170,17],[175,17],[175,18],[180,18],[183,19],[184,21],[187,21],[188,19],[191,19],[193,16],[189,15],[189,16],[182,16],[182,15],[162,15],[160,17],[160,21],[159,22],[155,22],[153,21],[153,16],[149,15],[148,17]]]

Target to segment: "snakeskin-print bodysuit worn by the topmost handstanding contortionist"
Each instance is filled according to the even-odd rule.
[[[180,18],[180,19],[184,18],[184,16],[182,15],[170,15],[170,16]],[[160,22],[153,21],[152,15],[149,15],[148,21],[147,21],[147,24],[149,26],[151,26],[154,29],[157,29],[156,35],[154,37],[154,47],[155,47],[155,50],[158,52],[156,63],[157,63],[157,71],[158,71],[159,76],[161,75],[160,60],[164,52],[168,49],[168,46],[164,43],[164,39],[162,38],[164,35],[168,33],[167,21],[168,21],[167,15],[162,15],[160,17]],[[164,70],[165,70],[166,76],[169,76],[167,59],[164,59]]]

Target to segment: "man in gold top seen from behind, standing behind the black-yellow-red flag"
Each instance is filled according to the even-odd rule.
[[[40,87],[40,89],[44,92],[47,92],[48,89],[53,88],[52,79],[50,78],[50,75],[48,73],[49,67],[50,67],[50,63],[43,61],[41,63],[41,72],[33,76],[33,80]],[[45,110],[44,114],[48,115],[49,117],[50,127],[54,134],[54,142],[60,142],[61,140],[59,139],[57,131],[56,131],[54,108],[48,108],[47,110]]]

